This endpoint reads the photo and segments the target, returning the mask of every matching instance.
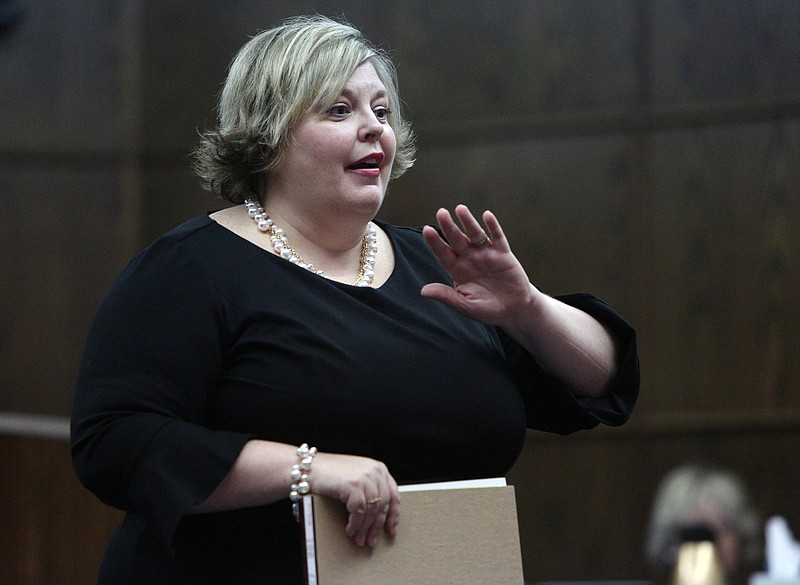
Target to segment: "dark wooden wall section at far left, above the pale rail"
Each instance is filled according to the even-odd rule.
[[[138,239],[131,6],[41,2],[3,46],[0,408],[69,413],[88,321]]]

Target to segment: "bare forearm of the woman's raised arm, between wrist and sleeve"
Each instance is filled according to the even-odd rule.
[[[614,339],[591,315],[531,288],[503,330],[576,394],[602,395],[615,373]]]

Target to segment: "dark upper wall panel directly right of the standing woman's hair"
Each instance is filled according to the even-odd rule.
[[[390,14],[420,130],[619,107],[635,94],[628,2],[416,1]]]

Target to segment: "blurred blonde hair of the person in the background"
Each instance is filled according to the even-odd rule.
[[[661,480],[653,501],[647,538],[647,557],[656,566],[674,562],[677,532],[697,523],[697,515],[713,509],[738,534],[746,560],[760,553],[760,520],[744,483],[732,472],[687,464]]]

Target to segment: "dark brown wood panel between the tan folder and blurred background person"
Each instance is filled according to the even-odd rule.
[[[529,434],[509,476],[517,490],[527,580],[649,576],[642,523],[657,478],[644,469],[630,477],[626,446],[613,439]]]

